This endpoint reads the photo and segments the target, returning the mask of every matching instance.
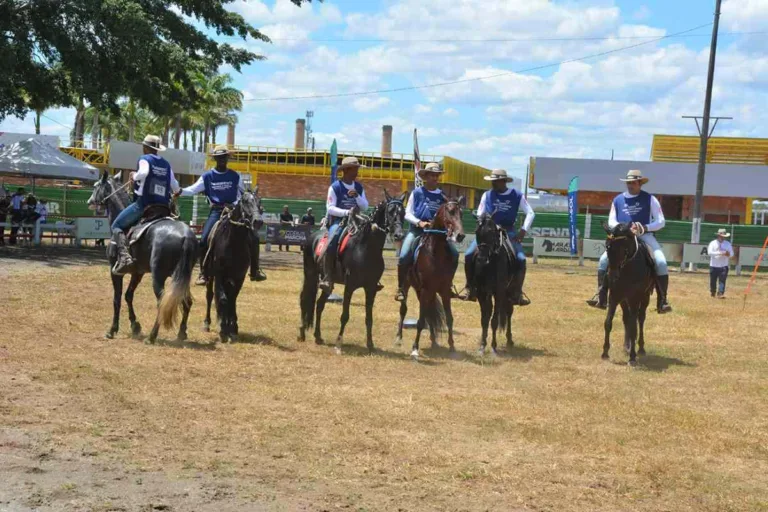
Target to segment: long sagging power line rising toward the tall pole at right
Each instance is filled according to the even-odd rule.
[[[490,80],[493,78],[499,78],[502,76],[510,76],[514,74],[521,74],[521,73],[530,73],[532,71],[540,71],[542,69],[552,68],[556,66],[561,66],[563,64],[569,64],[571,62],[579,62],[587,59],[593,59],[596,57],[603,57],[605,55],[610,55],[613,53],[622,52],[624,50],[631,50],[633,48],[638,48],[640,46],[645,46],[647,44],[656,43],[658,41],[662,41],[664,39],[668,39],[670,37],[675,37],[681,34],[685,34],[688,32],[693,32],[694,30],[699,30],[704,27],[711,26],[712,23],[705,23],[704,25],[699,25],[698,27],[694,27],[688,30],[683,30],[681,32],[677,32],[675,34],[670,34],[662,37],[657,37],[656,39],[652,39],[650,41],[644,41],[642,43],[636,43],[629,46],[622,46],[621,48],[614,48],[613,50],[606,50],[604,52],[600,53],[593,53],[591,55],[585,55],[583,57],[576,57],[573,59],[563,60],[560,62],[555,62],[551,64],[543,64],[541,66],[534,66],[531,68],[521,69],[519,71],[505,71],[503,73],[497,73],[495,75],[487,75],[487,76],[481,76],[476,78],[463,78],[459,80],[451,80],[448,82],[436,82],[431,84],[425,84],[425,85],[412,85],[407,87],[394,87],[391,89],[377,89],[373,91],[360,91],[360,92],[346,92],[346,93],[337,93],[337,94],[310,94],[306,96],[277,96],[272,98],[251,98],[244,101],[288,101],[288,100],[307,100],[307,99],[326,99],[326,98],[348,98],[353,96],[370,96],[373,94],[386,94],[386,93],[393,93],[393,92],[404,92],[404,91],[415,91],[420,89],[432,89],[435,87],[443,87],[446,85],[456,85],[456,84],[463,84],[468,82],[480,82],[483,80]]]

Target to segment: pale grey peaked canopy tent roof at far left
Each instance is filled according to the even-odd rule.
[[[32,179],[95,181],[99,170],[49,144],[30,138],[0,149],[0,174]]]

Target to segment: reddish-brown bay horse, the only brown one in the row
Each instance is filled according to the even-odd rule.
[[[451,297],[453,276],[458,262],[454,261],[448,244],[455,237],[457,242],[464,239],[461,222],[461,208],[464,198],[449,199],[435,212],[432,227],[425,229],[417,248],[416,257],[408,271],[403,288],[405,300],[400,303],[400,322],[397,326],[395,343],[403,339],[403,323],[408,312],[408,290],[413,287],[419,298],[419,319],[416,322],[416,339],[411,357],[419,358],[419,339],[424,327],[429,327],[432,348],[437,347],[437,335],[448,330],[448,349],[455,352],[453,344],[453,313]],[[440,302],[438,302],[438,295]]]

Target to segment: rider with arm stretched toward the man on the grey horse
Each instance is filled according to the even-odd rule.
[[[208,238],[216,222],[226,206],[234,206],[245,192],[245,184],[240,174],[227,167],[231,152],[226,146],[216,146],[211,153],[216,161],[216,167],[203,173],[194,185],[186,187],[178,192],[181,196],[193,196],[205,194],[211,204],[211,212],[203,227],[203,236],[200,239],[200,276],[197,284],[203,285],[206,276],[203,268],[205,255],[208,252]],[[259,268],[259,238],[255,229],[251,229],[251,281],[263,281],[267,278]]]

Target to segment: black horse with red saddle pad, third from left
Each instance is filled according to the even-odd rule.
[[[405,194],[391,197],[385,190],[385,200],[374,211],[371,218],[359,215],[356,210],[350,212],[349,240],[339,243],[340,256],[337,257],[337,271],[333,282],[344,285],[344,302],[342,304],[341,327],[336,337],[336,353],[341,354],[344,342],[344,329],[349,321],[349,304],[352,294],[358,288],[365,289],[365,327],[367,331],[366,346],[373,353],[373,304],[378,292],[379,280],[384,273],[384,242],[387,233],[395,241],[403,239],[403,220]],[[324,231],[318,231],[303,249],[304,255],[304,284],[301,289],[301,325],[299,341],[305,341],[306,330],[314,324],[315,343],[322,345],[323,337],[320,332],[320,322],[328,301],[329,292],[322,292],[317,298],[318,280],[321,262],[316,258],[318,245],[321,243]],[[324,243],[327,243],[325,240]],[[344,247],[346,245],[346,247]]]

